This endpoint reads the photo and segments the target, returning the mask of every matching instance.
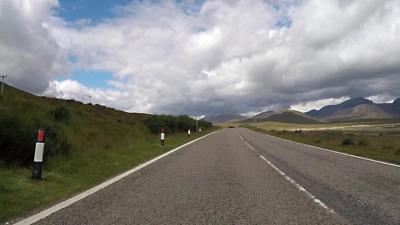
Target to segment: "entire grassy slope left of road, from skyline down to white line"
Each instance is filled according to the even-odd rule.
[[[187,123],[194,128],[194,120],[185,116],[126,113],[6,86],[0,99],[0,222],[46,207],[212,130],[188,138],[180,132]],[[209,124],[200,125],[205,130]],[[167,127],[164,146],[157,126]],[[44,180],[35,182],[30,176],[39,127],[47,131],[47,158]]]

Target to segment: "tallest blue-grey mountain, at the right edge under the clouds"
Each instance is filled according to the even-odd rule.
[[[400,117],[400,99],[393,103],[376,104],[365,98],[352,98],[338,105],[328,105],[320,110],[305,113],[323,120],[384,119]]]

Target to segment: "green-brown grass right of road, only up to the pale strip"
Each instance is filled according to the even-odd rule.
[[[291,125],[292,126],[292,125]],[[310,130],[288,131],[248,128],[276,137],[344,152],[356,156],[400,164],[400,131],[398,130]]]

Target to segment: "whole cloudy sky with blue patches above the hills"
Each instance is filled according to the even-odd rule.
[[[0,0],[0,74],[130,112],[400,96],[398,0]]]

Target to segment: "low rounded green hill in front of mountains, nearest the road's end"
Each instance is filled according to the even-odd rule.
[[[265,115],[265,114],[264,114]],[[240,122],[280,122],[280,123],[300,123],[300,124],[316,124],[323,121],[307,116],[295,110],[287,110],[283,112],[272,112],[269,116],[263,118],[252,117]]]

